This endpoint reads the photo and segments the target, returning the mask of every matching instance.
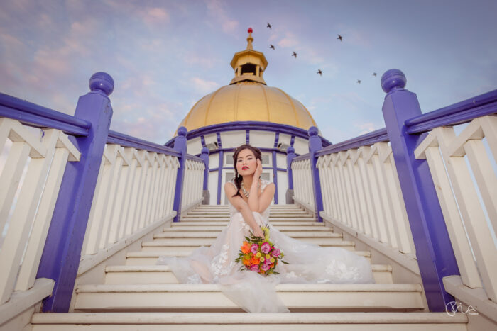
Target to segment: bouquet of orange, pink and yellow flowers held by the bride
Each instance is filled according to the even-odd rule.
[[[284,264],[288,262],[283,261],[285,254],[269,240],[269,228],[264,227],[262,230],[264,238],[256,237],[252,231],[249,237],[245,237],[246,241],[241,245],[235,262],[242,263],[240,270],[256,271],[264,276],[278,274],[274,271],[278,261]]]

